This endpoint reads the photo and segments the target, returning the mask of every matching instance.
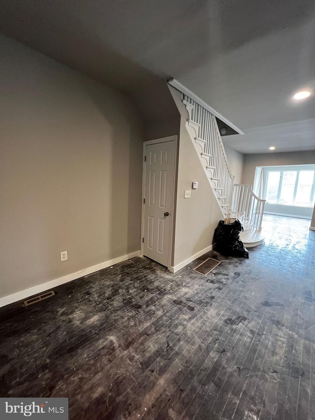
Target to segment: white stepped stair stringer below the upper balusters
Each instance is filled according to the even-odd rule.
[[[219,204],[219,207],[221,209],[221,213],[222,213],[222,218],[224,219],[226,216],[226,212],[228,210],[228,202],[225,200],[220,199],[220,193],[219,190],[216,190],[217,188],[217,183],[216,181],[212,180],[211,178],[213,177],[213,171],[211,170],[211,168],[209,168],[210,166],[210,161],[209,161],[209,156],[207,156],[204,153],[204,144],[203,141],[200,141],[201,139],[198,137],[199,134],[199,128],[200,126],[198,124],[196,124],[195,122],[191,121],[190,119],[187,120],[186,122],[186,129],[187,132],[189,133],[189,137],[194,145],[194,149],[199,157],[199,161],[207,175],[209,184],[212,188],[212,191],[214,193],[214,196],[217,199],[217,202]]]

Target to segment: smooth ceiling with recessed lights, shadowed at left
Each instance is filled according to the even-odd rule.
[[[315,150],[314,0],[7,0],[1,32],[134,93],[174,77],[245,132],[242,153]]]

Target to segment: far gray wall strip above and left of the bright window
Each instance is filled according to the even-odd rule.
[[[253,184],[256,166],[306,165],[314,163],[315,151],[245,155],[242,183]]]

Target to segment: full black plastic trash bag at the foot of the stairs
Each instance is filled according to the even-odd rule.
[[[213,237],[216,251],[231,257],[249,258],[249,252],[240,239],[240,232],[243,230],[239,220],[228,225],[224,225],[224,220],[220,220]]]

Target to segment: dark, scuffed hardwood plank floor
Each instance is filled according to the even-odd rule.
[[[208,276],[133,258],[0,310],[0,396],[68,397],[69,419],[314,420],[315,231]],[[211,238],[210,238],[211,239]]]

